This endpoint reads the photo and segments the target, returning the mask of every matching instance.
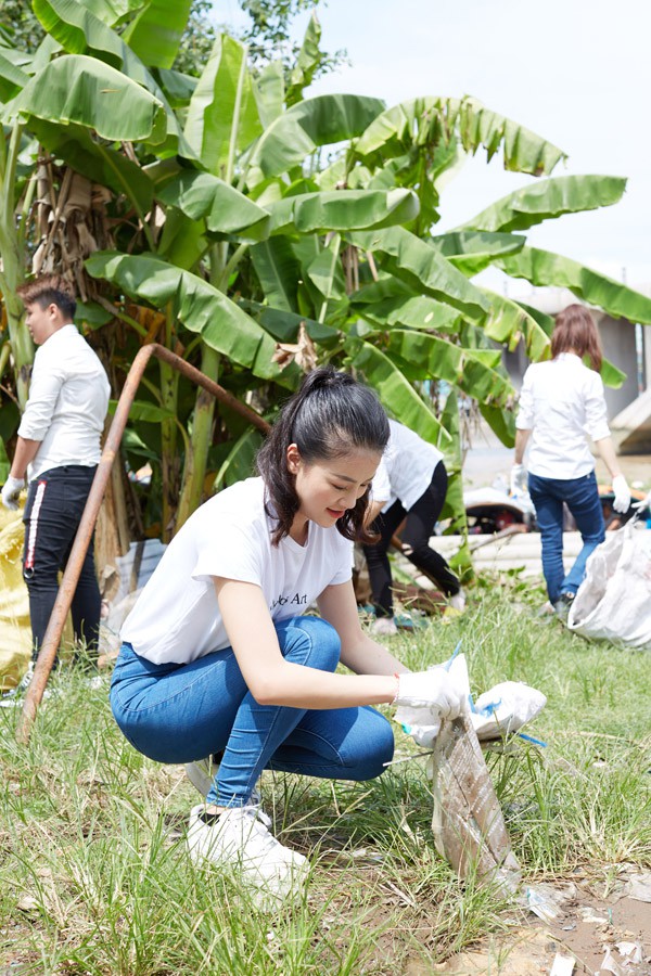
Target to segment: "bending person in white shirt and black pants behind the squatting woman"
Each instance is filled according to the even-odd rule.
[[[370,523],[378,534],[374,544],[363,547],[369,569],[371,599],[375,609],[375,633],[397,633],[388,547],[400,523],[403,552],[438,585],[455,609],[463,609],[465,596],[459,579],[441,553],[430,545],[447,493],[448,476],[443,454],[405,424],[390,420],[391,437],[373,478]],[[409,626],[408,621],[405,621]]]

